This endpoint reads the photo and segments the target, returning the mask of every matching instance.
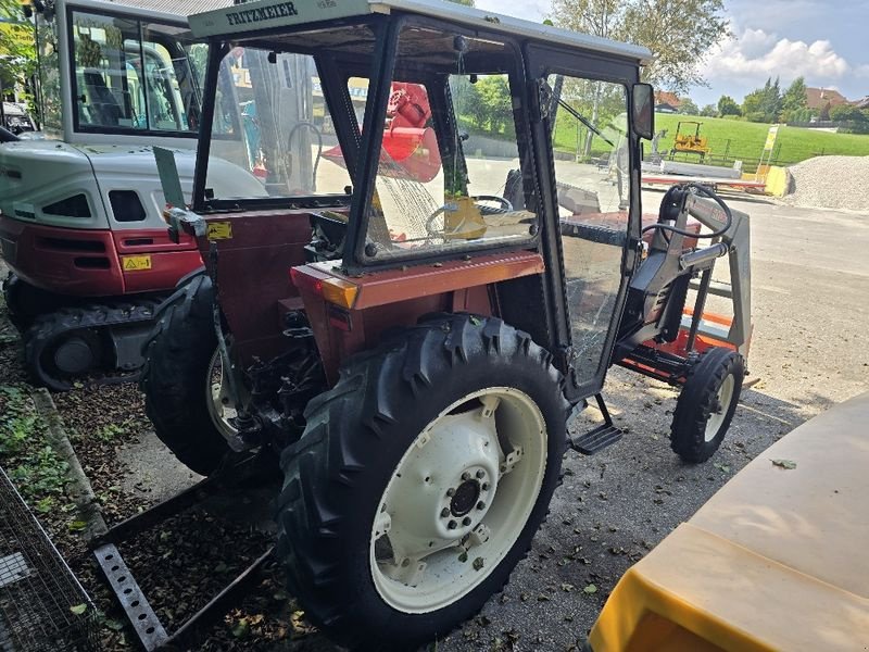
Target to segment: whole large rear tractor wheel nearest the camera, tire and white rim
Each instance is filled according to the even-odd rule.
[[[407,650],[501,590],[561,477],[551,355],[498,318],[441,315],[351,359],[281,456],[278,554],[312,620]]]

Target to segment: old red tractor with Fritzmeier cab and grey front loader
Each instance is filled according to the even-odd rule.
[[[210,46],[189,208],[172,152],[155,153],[168,237],[196,238],[204,268],[158,309],[140,386],[191,469],[279,461],[277,555],[329,636],[407,650],[499,591],[568,447],[621,437],[602,397],[613,364],[681,387],[683,460],[717,450],[744,376],[748,218],[692,186],[642,214],[646,49],[432,0],[260,0],[189,21]],[[268,62],[254,85],[315,76],[340,156],[290,137],[290,156],[264,161],[267,196],[223,186],[227,58]],[[568,108],[594,156],[624,152],[622,191],[554,155]],[[310,130],[292,120],[284,133]],[[406,128],[423,129],[414,164],[387,147]],[[698,352],[722,256],[740,310],[730,344]],[[688,341],[664,350],[692,283]],[[603,423],[569,436],[590,399]]]

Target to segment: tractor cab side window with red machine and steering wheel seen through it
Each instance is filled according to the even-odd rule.
[[[426,48],[442,67],[429,86],[401,73],[414,70]],[[537,215],[524,202],[518,100],[508,75],[492,72],[514,60],[512,49],[488,38],[402,32],[368,220],[369,261],[530,242]]]

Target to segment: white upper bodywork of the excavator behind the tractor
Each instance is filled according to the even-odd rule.
[[[190,199],[196,152],[172,150]],[[209,166],[210,181],[238,196],[265,195],[262,183],[224,160]],[[135,192],[143,211],[115,215],[112,199]],[[83,197],[84,196],[84,197]],[[127,196],[128,198],[128,196]],[[129,201],[116,205],[128,208]],[[0,212],[67,228],[165,228],[165,200],[150,147],[72,146],[52,140],[0,145]]]

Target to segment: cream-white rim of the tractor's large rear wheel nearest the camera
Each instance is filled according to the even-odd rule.
[[[369,564],[380,597],[427,613],[479,586],[525,528],[545,468],[545,419],[525,392],[492,387],[443,410],[377,507]]]

